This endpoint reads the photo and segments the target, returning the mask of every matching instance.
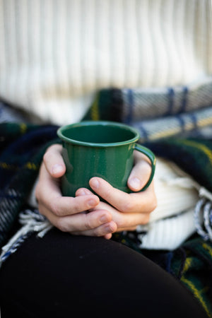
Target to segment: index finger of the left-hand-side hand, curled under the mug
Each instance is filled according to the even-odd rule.
[[[37,184],[35,195],[40,205],[39,209],[45,206],[56,216],[68,216],[89,210],[97,206],[100,201],[95,194],[75,198],[62,196],[57,182],[49,175],[45,165],[42,165],[40,169],[40,180]]]

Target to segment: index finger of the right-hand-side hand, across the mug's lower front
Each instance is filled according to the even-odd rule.
[[[156,207],[153,182],[145,192],[127,194],[100,177],[90,179],[90,187],[109,204],[124,213],[150,213]]]

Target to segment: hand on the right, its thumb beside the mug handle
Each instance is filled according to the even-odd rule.
[[[137,225],[148,223],[150,213],[157,204],[153,182],[145,191],[140,192],[151,175],[151,164],[145,155],[137,151],[134,151],[134,158],[135,165],[128,179],[128,187],[133,193],[127,194],[115,189],[100,177],[90,179],[90,187],[93,191],[108,202],[107,204],[100,201],[98,206],[90,211],[109,211],[112,220],[117,224],[117,231],[135,230]],[[84,188],[76,192],[76,196],[88,194],[91,192]],[[110,238],[112,235],[107,236]]]

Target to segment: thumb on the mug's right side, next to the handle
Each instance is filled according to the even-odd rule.
[[[129,189],[134,192],[141,191],[141,189],[148,182],[148,179],[151,176],[151,163],[150,160],[137,151],[134,152],[135,165],[131,170],[127,185]]]

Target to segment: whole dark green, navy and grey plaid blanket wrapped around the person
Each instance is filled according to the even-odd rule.
[[[140,142],[163,158],[173,160],[205,190],[194,216],[204,217],[177,249],[143,250],[136,232],[121,232],[112,239],[155,261],[175,276],[212,317],[212,80],[195,88],[101,90],[84,119],[104,119],[136,126]],[[194,102],[196,100],[196,103]],[[161,107],[155,107],[155,105]],[[155,117],[155,109],[157,114]],[[112,110],[112,111],[110,111]],[[147,110],[149,110],[147,112]],[[18,217],[29,208],[27,197],[49,145],[60,142],[57,126],[15,122],[0,124],[0,244],[20,228]],[[37,211],[32,211],[37,217]],[[196,224],[199,224],[198,222]],[[16,250],[17,242],[13,246]],[[6,258],[5,258],[6,259]]]

